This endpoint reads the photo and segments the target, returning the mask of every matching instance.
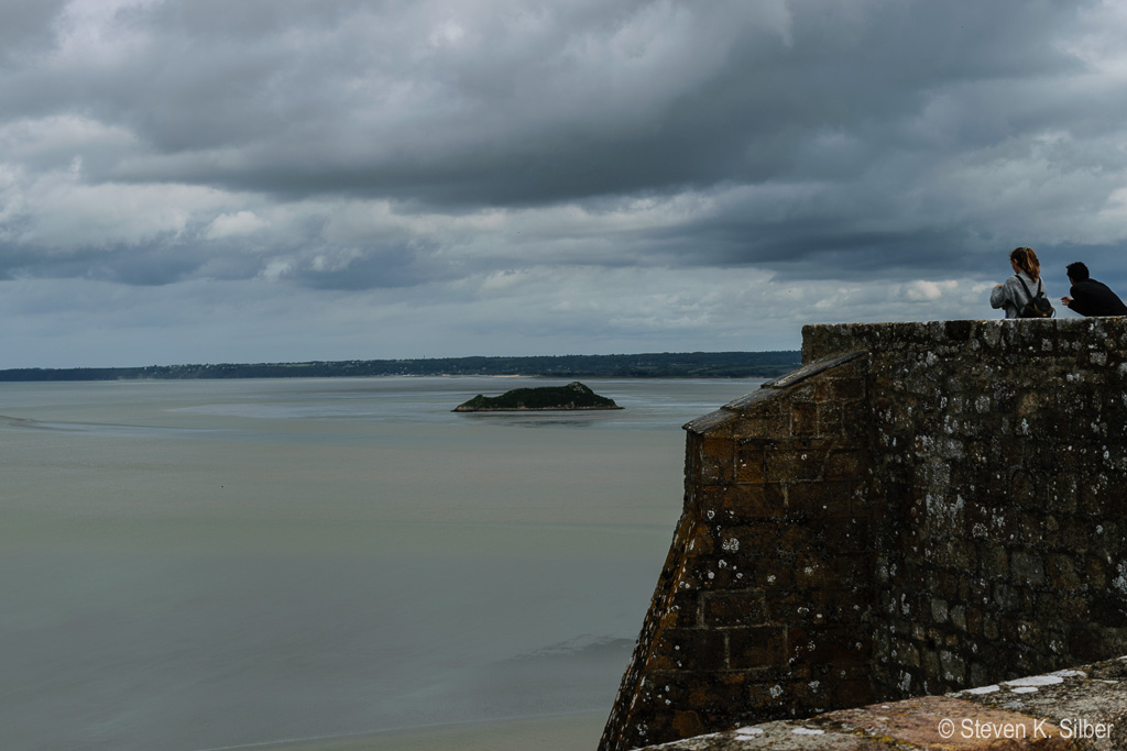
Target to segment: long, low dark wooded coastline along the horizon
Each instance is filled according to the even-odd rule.
[[[438,357],[249,365],[151,365],[135,368],[14,368],[5,381],[134,381],[142,378],[334,378],[345,376],[545,376],[553,378],[772,378],[801,364],[797,350],[651,352],[536,357]]]

